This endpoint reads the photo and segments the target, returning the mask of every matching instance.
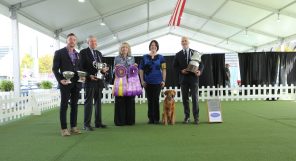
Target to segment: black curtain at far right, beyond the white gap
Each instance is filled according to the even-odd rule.
[[[239,53],[242,85],[296,83],[295,52]]]

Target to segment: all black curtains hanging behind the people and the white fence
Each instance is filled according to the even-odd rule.
[[[296,85],[296,52],[251,52],[239,53],[239,66],[242,85],[278,85],[286,83]],[[135,57],[140,64],[142,57]],[[167,63],[167,87],[179,86],[178,71],[173,68],[174,56],[165,56]],[[105,57],[103,61],[110,67],[107,81],[113,84],[114,57]],[[200,86],[225,85],[225,54],[205,54],[205,65],[200,77]]]

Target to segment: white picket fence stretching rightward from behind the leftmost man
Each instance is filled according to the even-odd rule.
[[[176,91],[175,101],[181,102],[181,89],[177,87],[164,88],[162,91],[167,89],[174,89]],[[80,104],[84,102],[84,90],[80,91],[81,99]],[[239,100],[295,100],[296,99],[296,86],[241,86],[241,87],[201,87],[199,89],[199,100],[206,101],[208,99],[219,98],[222,101],[239,101]],[[146,102],[145,90],[141,96],[136,97],[137,103]],[[164,95],[160,95],[160,101],[164,100]],[[102,103],[112,103],[114,98],[111,89],[103,90]]]

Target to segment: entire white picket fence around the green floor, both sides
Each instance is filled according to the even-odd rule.
[[[181,89],[176,91],[175,101],[181,102]],[[222,101],[244,101],[244,100],[296,100],[296,86],[241,86],[241,87],[202,87],[199,89],[199,100],[218,98]],[[79,104],[85,100],[84,90],[81,90]],[[164,100],[164,95],[160,95],[160,101]],[[136,97],[137,103],[147,101],[145,91],[141,96]],[[103,90],[102,103],[113,103],[114,97],[111,88]],[[19,119],[28,115],[40,115],[42,111],[59,107],[59,90],[37,90],[31,91],[28,95],[15,97],[13,93],[0,93],[0,124],[11,120]]]

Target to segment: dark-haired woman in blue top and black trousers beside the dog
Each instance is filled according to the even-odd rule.
[[[158,42],[149,44],[150,53],[143,56],[140,63],[140,78],[148,100],[148,124],[159,123],[159,94],[165,86],[166,63],[164,57],[157,54]]]

